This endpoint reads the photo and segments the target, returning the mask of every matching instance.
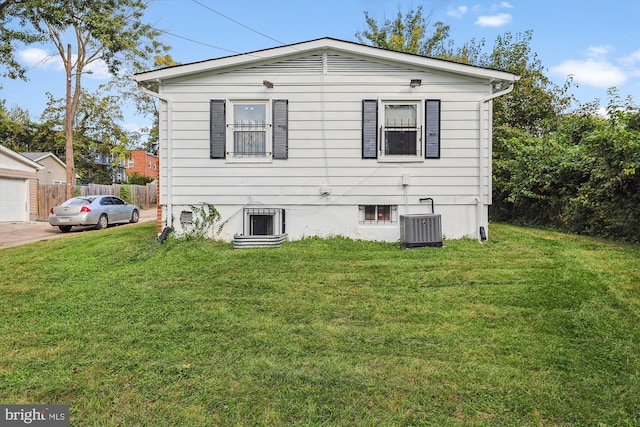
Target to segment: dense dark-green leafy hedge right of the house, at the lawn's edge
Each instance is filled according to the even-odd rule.
[[[590,103],[541,137],[502,125],[494,219],[640,242],[640,110],[609,97],[606,118]]]

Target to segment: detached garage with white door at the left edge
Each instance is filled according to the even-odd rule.
[[[35,221],[43,166],[0,145],[0,222]]]

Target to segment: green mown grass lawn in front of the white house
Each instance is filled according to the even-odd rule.
[[[640,424],[640,248],[491,232],[4,249],[0,402],[73,426]]]

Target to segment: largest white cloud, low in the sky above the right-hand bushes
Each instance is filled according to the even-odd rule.
[[[571,75],[576,83],[604,89],[621,85],[628,79],[623,70],[605,60],[598,59],[568,59],[560,65],[551,67],[550,71],[564,77]]]

